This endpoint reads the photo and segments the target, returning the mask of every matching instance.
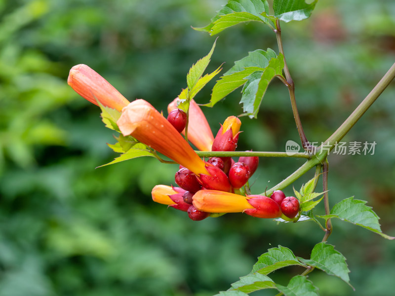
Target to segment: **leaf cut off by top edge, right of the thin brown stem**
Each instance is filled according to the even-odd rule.
[[[307,4],[305,0],[274,0],[275,17],[286,23],[307,19],[316,7],[316,2]]]

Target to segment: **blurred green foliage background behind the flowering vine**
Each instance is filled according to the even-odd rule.
[[[117,155],[107,147],[99,108],[68,85],[87,64],[128,99],[166,110],[186,73],[214,37],[196,32],[224,0],[0,1],[0,296],[211,296],[247,274],[278,244],[309,257],[322,239],[311,222],[276,225],[243,214],[191,221],[151,200],[174,184],[177,166],[142,158],[95,169]],[[325,140],[395,61],[393,0],[319,1],[312,17],[282,25],[285,55],[310,141]],[[208,70],[229,69],[248,51],[271,47],[268,28],[224,31]],[[196,100],[209,100],[214,82]],[[219,123],[241,113],[239,91],[205,108]],[[166,112],[165,112],[166,113]],[[167,113],[166,113],[167,114]],[[238,150],[284,151],[298,142],[286,88],[274,81],[257,120],[242,117]],[[346,141],[376,141],[374,155],[330,155],[331,205],[368,201],[395,235],[395,84]],[[275,185],[304,161],[261,159],[252,191]],[[313,176],[312,171],[294,184]],[[292,188],[285,193],[292,195]],[[322,208],[318,212],[322,212]],[[329,238],[348,259],[351,283],[315,271],[321,296],[390,295],[395,243],[334,221]],[[273,273],[278,283],[303,270]],[[275,295],[263,291],[252,295]]]

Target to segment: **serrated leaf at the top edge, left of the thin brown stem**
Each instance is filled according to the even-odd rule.
[[[272,27],[271,21],[262,15],[269,12],[267,0],[232,0],[217,12],[211,23],[203,28],[194,28],[214,35],[242,22],[260,21]]]

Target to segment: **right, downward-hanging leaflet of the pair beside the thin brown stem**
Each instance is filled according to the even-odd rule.
[[[276,58],[272,58],[269,61],[269,65],[263,69],[256,88],[254,84],[250,89],[243,89],[240,103],[243,103],[243,111],[247,113],[250,118],[257,117],[259,107],[270,81],[272,81],[276,75],[282,75],[283,67],[284,59],[282,54],[279,54]]]

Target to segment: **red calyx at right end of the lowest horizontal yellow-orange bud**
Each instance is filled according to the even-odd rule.
[[[246,209],[244,213],[257,218],[277,218],[281,216],[280,206],[269,197],[250,195],[247,199],[254,209]]]

